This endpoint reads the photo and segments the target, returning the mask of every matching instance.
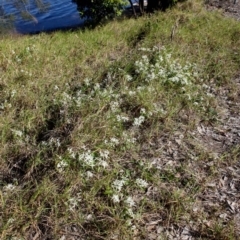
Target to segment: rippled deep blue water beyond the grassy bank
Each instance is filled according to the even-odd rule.
[[[13,15],[14,30],[18,33],[28,34],[73,28],[83,25],[84,22],[77,11],[77,4],[72,0],[42,1],[47,4],[45,11],[37,7],[36,0],[29,0],[24,8],[30,13],[32,19],[22,18],[20,9],[14,5],[14,1],[16,3],[16,0],[0,0],[0,6],[5,15]]]

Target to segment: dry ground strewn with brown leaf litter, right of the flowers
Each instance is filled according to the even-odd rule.
[[[191,206],[182,199],[186,215],[196,220],[176,224],[167,223],[162,215],[146,216],[148,239],[161,239],[159,234],[166,239],[216,239],[216,223],[226,229],[232,226],[233,239],[240,236],[240,74],[229,88],[214,84],[210,88],[218,102],[216,122],[199,122],[191,130],[183,124],[153,139],[151,150],[147,144],[142,147],[142,156],[161,173],[162,189],[182,191],[185,196],[198,189]],[[148,196],[156,197],[158,192],[149,189]],[[226,232],[217,239],[227,236]]]

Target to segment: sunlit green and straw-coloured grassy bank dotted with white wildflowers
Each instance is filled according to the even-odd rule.
[[[217,150],[196,132],[221,127],[222,90],[239,100],[239,44],[239,22],[193,1],[2,37],[0,238],[238,239],[203,195],[239,142]]]

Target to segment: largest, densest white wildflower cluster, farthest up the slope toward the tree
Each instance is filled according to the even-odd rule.
[[[155,52],[154,61],[150,61],[147,55],[135,62],[136,72],[144,78],[145,81],[154,80],[163,83],[173,83],[180,85],[190,85],[196,72],[193,72],[194,66],[186,64],[182,66],[176,60],[172,59],[165,48],[161,50],[153,49]]]

